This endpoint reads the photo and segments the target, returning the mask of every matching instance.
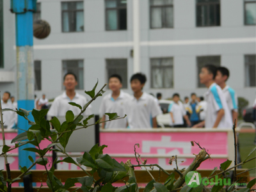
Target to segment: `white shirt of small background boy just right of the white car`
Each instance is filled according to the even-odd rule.
[[[183,116],[186,115],[186,109],[184,107],[184,104],[182,102],[172,102],[169,105],[168,112],[172,112],[173,119],[174,119],[174,125],[183,125],[184,120]],[[171,117],[172,120],[172,117]]]

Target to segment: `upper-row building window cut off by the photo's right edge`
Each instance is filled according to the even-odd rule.
[[[256,1],[244,0],[244,24],[256,24]]]

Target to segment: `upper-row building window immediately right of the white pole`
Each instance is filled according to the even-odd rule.
[[[173,28],[173,0],[150,0],[150,28]]]

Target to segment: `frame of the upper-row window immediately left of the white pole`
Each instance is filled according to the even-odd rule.
[[[107,8],[106,7],[106,1],[108,0],[105,0],[104,3],[105,3],[105,29],[106,31],[127,31],[127,3],[125,5],[125,7],[122,7],[122,6],[116,6],[116,7],[113,7],[113,8]],[[116,4],[118,4],[118,0],[115,0],[116,1]],[[108,10],[117,10],[116,14],[117,14],[117,29],[108,29]],[[120,29],[120,13],[119,13],[119,10],[126,10],[126,29]]]

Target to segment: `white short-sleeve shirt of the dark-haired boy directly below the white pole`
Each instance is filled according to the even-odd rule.
[[[150,129],[151,118],[162,114],[161,108],[154,100],[152,95],[143,92],[140,99],[136,99],[133,95],[125,104],[127,108],[127,119],[129,127]]]

